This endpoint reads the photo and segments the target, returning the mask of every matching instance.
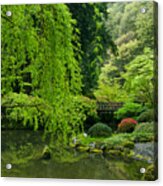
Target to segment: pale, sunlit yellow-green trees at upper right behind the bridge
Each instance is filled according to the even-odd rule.
[[[157,29],[153,2],[109,3],[108,12],[106,25],[118,55],[111,54],[102,67],[94,94],[98,100],[139,102],[151,107]]]

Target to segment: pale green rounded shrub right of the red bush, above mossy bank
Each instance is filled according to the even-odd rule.
[[[139,123],[138,125],[136,125],[134,132],[153,133],[154,132],[154,122]]]

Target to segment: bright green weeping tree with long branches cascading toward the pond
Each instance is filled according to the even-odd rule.
[[[10,17],[7,11],[11,11]],[[84,120],[84,111],[76,107],[81,75],[75,58],[75,24],[64,4],[2,6],[2,102],[6,95],[11,103],[19,99],[18,107],[18,103],[42,100],[39,105],[44,102],[50,107],[45,133],[62,145],[82,129]],[[21,105],[19,112],[12,106],[12,115],[14,109],[15,115],[26,113],[29,120],[25,123],[32,122],[37,130],[43,112],[38,112],[39,117],[34,113],[40,106],[34,106],[32,112],[26,106]]]

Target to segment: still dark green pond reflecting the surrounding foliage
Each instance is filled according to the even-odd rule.
[[[2,131],[1,134],[3,177],[143,180],[140,168],[149,165],[146,161],[110,159],[103,154],[75,150],[69,152],[71,161],[69,157],[61,162],[44,160],[40,154],[48,142],[42,140],[41,131]],[[8,163],[12,164],[11,169],[6,169]]]

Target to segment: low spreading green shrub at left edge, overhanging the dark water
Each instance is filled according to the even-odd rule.
[[[37,130],[52,120],[52,108],[41,98],[9,93],[2,97],[2,128]]]

